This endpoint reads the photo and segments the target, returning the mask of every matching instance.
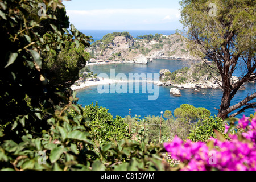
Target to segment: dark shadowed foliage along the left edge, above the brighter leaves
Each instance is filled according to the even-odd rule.
[[[45,3],[47,10],[63,7],[59,2]],[[7,140],[20,140],[19,136],[26,134],[27,130],[40,132],[42,127],[47,126],[41,117],[42,105],[46,109],[54,109],[54,105],[63,100],[56,92],[64,91],[65,88],[49,84],[40,54],[50,49],[59,49],[67,40],[84,46],[89,46],[90,41],[90,37],[81,34],[73,25],[71,34],[67,29],[58,30],[52,24],[51,31],[44,37],[40,36],[34,28],[44,20],[55,18],[52,15],[39,18],[37,14],[28,11],[28,7],[38,9],[33,1],[2,1],[0,6],[0,36],[5,43],[0,50],[3,57],[0,63],[0,85],[5,88],[0,90],[0,106],[5,108],[4,114],[1,113],[0,125],[10,123],[4,131]],[[28,22],[31,17],[33,19]],[[31,98],[32,109],[27,105],[26,97]]]

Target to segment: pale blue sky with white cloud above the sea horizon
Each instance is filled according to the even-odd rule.
[[[69,21],[80,30],[176,30],[179,0],[63,1]]]

